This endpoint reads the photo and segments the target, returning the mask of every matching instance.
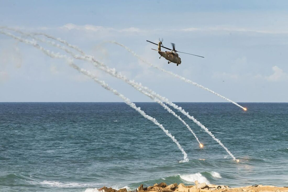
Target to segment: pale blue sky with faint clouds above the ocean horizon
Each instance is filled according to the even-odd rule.
[[[173,102],[226,101],[107,41],[122,43],[154,65],[235,102],[288,102],[287,20],[288,1],[0,0],[0,26],[60,37]],[[167,64],[151,50],[157,46],[146,42],[158,38],[166,47],[175,43],[176,50],[205,58],[180,53],[181,65]],[[152,101],[88,62],[75,63],[134,102]],[[122,102],[65,60],[2,34],[0,90],[0,102]]]

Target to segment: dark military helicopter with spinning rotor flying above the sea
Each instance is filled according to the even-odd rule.
[[[146,41],[148,41],[148,40],[146,40]],[[171,62],[173,62],[173,63],[176,63],[177,66],[180,65],[180,64],[181,64],[181,58],[179,57],[179,55],[178,55],[177,52],[179,52],[179,53],[184,53],[184,52],[176,51],[176,50],[175,50],[175,44],[174,44],[174,43],[171,43],[173,49],[169,49],[169,48],[167,48],[167,47],[164,47],[164,46],[162,46],[162,41],[163,41],[163,38],[162,38],[161,41],[160,41],[160,38],[159,38],[159,43],[158,43],[158,44],[153,43],[153,42],[151,42],[151,41],[148,41],[148,42],[153,43],[153,44],[155,44],[155,45],[158,45],[158,50],[156,50],[156,49],[152,49],[152,50],[158,51],[158,53],[160,54],[159,59],[160,59],[161,57],[164,57],[165,59],[168,60],[168,64],[171,63]],[[164,51],[161,51],[161,47],[163,47],[163,48],[165,48],[165,49],[168,49],[168,50],[170,50],[170,51],[165,51],[165,52],[164,52]],[[185,53],[185,54],[193,55],[193,54],[190,54],[190,53]],[[202,56],[199,56],[199,55],[194,55],[194,56],[202,57]],[[203,57],[203,58],[204,58],[204,57]]]

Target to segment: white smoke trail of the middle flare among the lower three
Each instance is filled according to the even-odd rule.
[[[24,32],[22,32],[22,31],[20,31],[20,30],[17,30],[17,29],[13,29],[13,28],[7,28],[7,29],[12,30],[12,31],[15,31],[15,32],[17,32],[17,33],[21,33],[21,34],[26,35],[26,36],[31,36],[31,37],[35,38],[35,37],[34,37],[33,35],[31,35],[31,34],[29,34],[29,33],[24,33]],[[39,34],[39,33],[33,33],[33,34]],[[41,33],[41,34],[43,34],[43,33]],[[47,34],[45,34],[45,36],[48,37],[48,38],[52,38],[52,39],[54,39],[54,40],[55,40],[55,39],[56,39],[56,40],[60,39],[60,38],[52,37],[52,36],[47,35]],[[87,55],[85,55],[85,53],[84,53],[83,51],[81,51],[81,53],[84,54],[84,57],[85,57],[85,58],[73,54],[73,52],[71,52],[71,51],[70,51],[69,49],[67,49],[66,47],[60,46],[59,44],[56,44],[56,43],[53,42],[53,41],[47,41],[47,40],[38,39],[38,38],[35,38],[35,39],[36,39],[36,40],[39,40],[39,41],[41,41],[41,42],[44,42],[44,43],[49,43],[49,44],[51,44],[51,45],[53,45],[53,46],[55,46],[55,47],[58,47],[58,48],[64,50],[65,52],[71,54],[71,55],[72,55],[74,58],[76,58],[76,59],[82,59],[82,60],[90,61],[90,62],[92,62],[93,64],[94,64],[94,62],[96,62],[97,64],[100,64],[102,67],[100,67],[100,66],[98,66],[98,65],[95,65],[95,64],[94,64],[94,66],[100,68],[101,70],[105,71],[106,73],[109,73],[110,75],[112,75],[112,76],[114,76],[114,77],[117,77],[117,78],[119,78],[119,79],[122,79],[122,80],[126,81],[126,83],[132,85],[132,86],[133,86],[135,89],[137,89],[139,92],[141,92],[141,93],[145,94],[146,96],[150,97],[152,100],[154,100],[155,102],[157,102],[158,104],[160,104],[164,109],[166,109],[169,113],[171,113],[171,114],[174,115],[177,119],[179,119],[179,120],[187,127],[187,129],[193,134],[193,136],[196,138],[197,142],[199,143],[200,147],[203,147],[203,145],[202,145],[201,142],[199,141],[199,139],[198,139],[198,137],[196,136],[196,134],[193,132],[193,130],[190,128],[190,126],[189,126],[180,116],[178,116],[172,109],[170,109],[170,108],[169,108],[167,105],[165,105],[163,102],[161,102],[160,100],[158,100],[157,98],[155,98],[154,96],[152,96],[151,94],[149,94],[148,92],[144,91],[138,84],[135,84],[134,82],[128,80],[125,76],[122,76],[120,73],[119,73],[119,76],[116,76],[116,75],[115,75],[115,69],[109,69],[106,65],[104,65],[104,64],[96,61],[94,58],[92,58],[92,56],[87,56]],[[75,47],[77,47],[77,46],[75,46],[75,45],[71,45],[71,44],[67,43],[67,41],[64,41],[64,40],[62,40],[62,39],[60,39],[60,42],[64,43],[65,45],[67,45],[67,46],[69,46],[69,47],[71,47],[71,48],[74,48],[74,49],[76,49]],[[80,50],[80,49],[77,48],[76,50]],[[92,59],[92,60],[90,60],[90,59]],[[105,67],[105,68],[103,68],[103,67]],[[111,73],[111,71],[113,71],[113,72]],[[116,72],[116,73],[117,73],[117,72]]]

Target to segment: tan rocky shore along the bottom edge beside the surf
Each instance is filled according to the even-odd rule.
[[[195,181],[195,185],[185,186],[183,183],[179,185],[173,183],[166,185],[166,183],[155,183],[153,186],[143,187],[140,185],[136,191],[127,191],[126,188],[123,189],[112,189],[107,187],[102,187],[98,189],[102,192],[222,192],[222,191],[231,191],[231,192],[288,192],[288,187],[275,187],[271,185],[252,185],[246,187],[236,187],[230,188],[227,185],[214,185],[206,183],[198,183]]]

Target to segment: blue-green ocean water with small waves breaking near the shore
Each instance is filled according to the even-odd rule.
[[[288,103],[177,103],[204,144],[156,103],[136,103],[188,154],[125,103],[0,103],[0,191],[135,190],[140,184],[288,186]]]

